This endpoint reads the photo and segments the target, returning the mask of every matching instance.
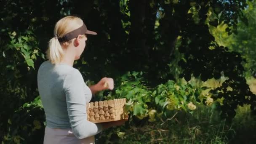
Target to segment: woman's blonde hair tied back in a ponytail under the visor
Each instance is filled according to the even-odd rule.
[[[83,20],[77,16],[66,16],[60,19],[54,27],[54,34],[57,37],[63,37],[67,33],[78,29],[83,25]],[[47,58],[52,64],[59,63],[63,57],[64,51],[57,37],[52,37],[48,42]],[[72,40],[69,40],[70,43]]]

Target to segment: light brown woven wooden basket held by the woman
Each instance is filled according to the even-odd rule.
[[[128,114],[123,111],[125,103],[126,99],[90,102],[87,105],[87,120],[104,123],[128,119]]]

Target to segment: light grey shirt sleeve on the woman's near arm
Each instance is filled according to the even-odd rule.
[[[87,121],[85,97],[91,95],[91,91],[84,91],[85,83],[81,73],[77,69],[73,69],[65,77],[63,85],[69,121],[75,136],[78,139],[84,139],[101,132],[101,124]]]

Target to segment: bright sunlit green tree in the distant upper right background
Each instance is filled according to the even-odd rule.
[[[251,77],[256,72],[255,61],[255,16],[256,1],[248,2],[247,8],[243,10],[243,14],[247,19],[238,19],[237,32],[229,34],[227,24],[220,24],[216,29],[212,29],[212,34],[216,37],[219,45],[227,46],[229,51],[241,53],[246,61],[243,62],[245,67],[245,76]],[[235,26],[236,27],[236,26]]]

